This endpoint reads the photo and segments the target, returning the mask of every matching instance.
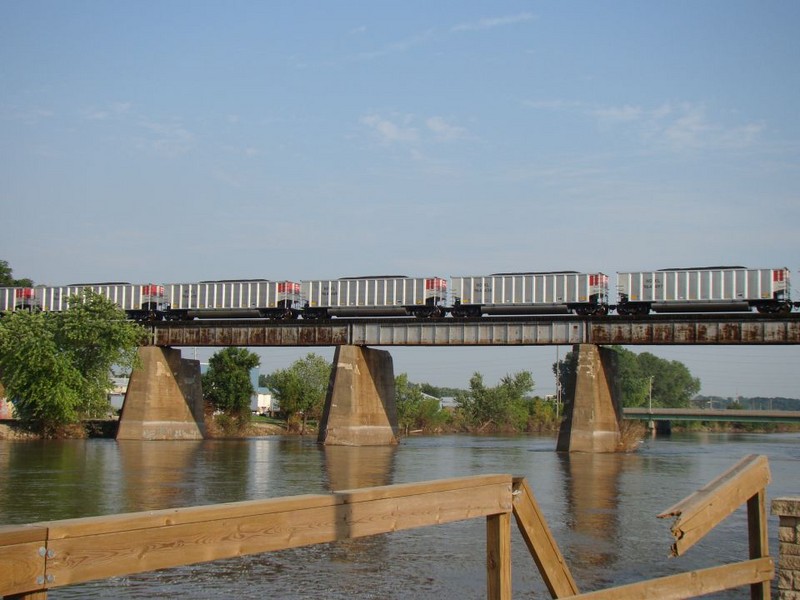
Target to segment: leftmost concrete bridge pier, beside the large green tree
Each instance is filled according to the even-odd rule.
[[[139,348],[122,405],[118,440],[201,440],[205,432],[200,362],[180,350]]]

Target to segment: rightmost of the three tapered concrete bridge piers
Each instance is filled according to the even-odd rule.
[[[573,386],[574,398],[558,432],[556,449],[565,452],[616,452],[622,410],[612,386],[616,371],[613,350],[580,344]]]

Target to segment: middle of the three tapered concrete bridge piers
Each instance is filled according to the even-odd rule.
[[[332,446],[397,444],[394,366],[388,352],[337,346],[318,441]]]

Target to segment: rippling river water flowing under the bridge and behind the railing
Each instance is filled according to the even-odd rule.
[[[396,448],[242,441],[0,441],[0,525],[510,473],[527,477],[581,591],[747,559],[740,509],[681,558],[656,515],[747,454],[768,502],[800,493],[800,434],[673,434],[631,454],[554,452],[551,436],[406,438]],[[768,505],[769,506],[769,505]],[[515,598],[549,598],[512,531]],[[770,517],[777,556],[777,520]],[[485,520],[55,588],[49,598],[485,598]],[[749,597],[747,590],[716,598]]]

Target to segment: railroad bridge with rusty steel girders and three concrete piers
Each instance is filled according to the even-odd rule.
[[[800,314],[677,314],[649,317],[508,317],[482,319],[332,319],[330,321],[196,320],[148,325],[142,368],[131,377],[118,439],[202,437],[203,403],[197,361],[180,347],[335,346],[319,441],[384,445],[397,442],[391,346],[543,346],[578,350],[575,397],[568,404],[558,449],[611,452],[622,411],[614,355],[604,345],[795,345]]]

